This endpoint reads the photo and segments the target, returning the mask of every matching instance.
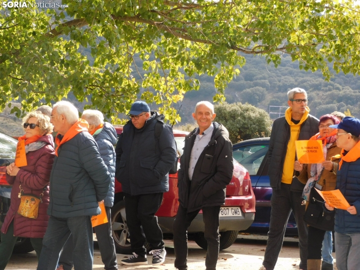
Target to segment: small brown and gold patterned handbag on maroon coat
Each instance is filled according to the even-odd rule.
[[[34,194],[24,194],[24,190],[21,188],[20,184],[20,193],[19,198],[20,206],[18,209],[18,214],[29,219],[36,219],[39,211],[39,205],[42,203],[41,197],[44,195],[46,186],[39,196]]]

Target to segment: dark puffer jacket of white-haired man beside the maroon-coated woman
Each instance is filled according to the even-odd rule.
[[[99,215],[98,201],[106,197],[111,178],[94,138],[80,132],[61,145],[57,154],[47,214],[57,218]]]

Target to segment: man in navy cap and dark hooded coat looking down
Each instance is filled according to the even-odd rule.
[[[150,111],[144,101],[133,103],[129,117],[115,148],[115,176],[122,183],[134,255],[121,263],[147,264],[147,241],[152,264],[157,265],[164,262],[166,251],[155,213],[169,190],[168,172],[177,159],[176,145],[171,127],[162,122],[164,116]],[[159,138],[155,136],[157,122],[162,123]]]

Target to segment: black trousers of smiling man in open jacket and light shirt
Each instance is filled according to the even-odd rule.
[[[220,206],[204,207],[203,220],[205,223],[205,239],[208,242],[208,252],[206,254],[205,266],[206,270],[215,270],[217,256],[219,255],[219,213]],[[187,269],[188,261],[188,228],[191,222],[198,215],[200,209],[189,212],[186,208],[179,205],[176,218],[172,225],[174,252],[175,252],[175,268]]]

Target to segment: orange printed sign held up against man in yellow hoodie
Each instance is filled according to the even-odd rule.
[[[295,141],[295,147],[297,160],[302,164],[325,161],[321,140]]]

